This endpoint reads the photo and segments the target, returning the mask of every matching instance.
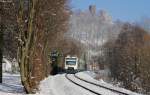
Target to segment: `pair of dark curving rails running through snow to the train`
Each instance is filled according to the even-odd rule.
[[[90,92],[92,92],[92,93],[94,93],[94,94],[96,94],[96,95],[102,95],[102,94],[100,94],[100,93],[98,93],[98,92],[96,92],[96,91],[93,91],[93,90],[87,88],[86,86],[83,86],[83,85],[81,85],[81,84],[79,84],[79,83],[73,81],[72,79],[70,79],[70,78],[68,77],[68,75],[69,75],[69,74],[66,74],[65,77],[66,77],[70,82],[72,82],[72,83],[76,84],[77,86],[80,86],[80,87],[82,87],[82,88],[84,88],[84,89],[86,89],[86,90],[88,90],[88,91],[90,91]],[[76,74],[73,74],[73,75],[74,75],[74,77],[75,77],[76,79],[79,79],[79,80],[81,80],[81,81],[83,81],[83,82],[86,82],[86,83],[88,83],[88,84],[91,84],[91,85],[94,85],[94,86],[97,86],[97,87],[100,87],[100,88],[104,88],[104,89],[109,90],[109,91],[111,91],[111,92],[114,92],[114,93],[116,93],[116,94],[119,94],[119,95],[130,95],[130,94],[127,94],[127,93],[125,93],[125,92],[121,92],[121,91],[118,91],[118,90],[115,90],[115,89],[111,89],[111,88],[102,86],[102,85],[100,85],[100,84],[96,84],[96,83],[87,81],[87,80],[85,80],[85,79],[82,79],[82,78],[78,77]]]

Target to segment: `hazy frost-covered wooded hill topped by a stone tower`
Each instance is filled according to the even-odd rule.
[[[93,8],[93,9],[92,9]],[[107,40],[116,39],[121,25],[113,22],[111,16],[104,10],[95,11],[95,6],[90,6],[89,11],[75,11],[69,20],[69,30],[65,33],[66,38],[81,43],[83,52],[86,55],[86,62],[94,61],[94,56],[101,56],[104,51],[103,45]],[[102,63],[98,62],[97,63]]]

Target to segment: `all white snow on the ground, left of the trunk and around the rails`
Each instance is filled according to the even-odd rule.
[[[80,72],[77,73],[76,75],[85,80],[101,84],[103,86],[107,86],[115,90],[127,92],[129,93],[129,95],[139,95],[123,88],[114,87],[113,85],[108,84],[103,80],[97,81],[93,78],[95,75],[92,72]],[[100,92],[102,95],[118,95],[116,93],[112,93],[111,91],[102,88],[98,89],[97,87],[84,83],[78,79],[75,79],[72,75],[69,75],[69,77],[73,79],[75,82],[80,83],[81,85],[84,85],[86,87],[92,88],[97,92]],[[3,83],[0,84],[0,95],[25,95],[23,86],[21,85],[20,82],[20,76],[17,74],[4,73]],[[65,78],[65,74],[58,74],[55,76],[49,76],[48,78],[45,78],[43,81],[41,81],[39,85],[39,91],[37,91],[37,93],[34,95],[95,95],[95,94],[71,83],[69,80]]]

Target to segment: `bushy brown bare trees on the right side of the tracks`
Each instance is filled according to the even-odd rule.
[[[126,23],[116,40],[105,45],[111,76],[132,91],[150,91],[150,34]]]

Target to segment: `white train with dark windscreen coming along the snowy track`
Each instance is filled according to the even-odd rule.
[[[77,70],[78,69],[78,57],[67,56],[65,57],[65,70]]]

